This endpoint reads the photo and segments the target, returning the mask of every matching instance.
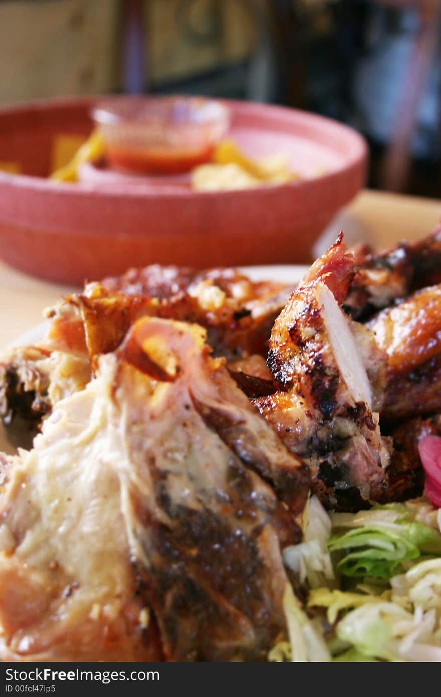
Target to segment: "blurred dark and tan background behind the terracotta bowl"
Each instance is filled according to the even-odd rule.
[[[369,185],[441,197],[439,0],[0,0],[0,104],[200,93],[357,128]]]

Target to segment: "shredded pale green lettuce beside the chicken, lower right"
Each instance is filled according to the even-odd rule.
[[[441,661],[440,523],[425,498],[328,516],[312,497],[304,542],[284,550],[284,560],[309,585],[308,613],[316,618],[287,585],[289,643],[268,659]],[[345,577],[350,590],[335,588]]]

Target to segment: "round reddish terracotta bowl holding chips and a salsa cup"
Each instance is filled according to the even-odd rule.
[[[364,183],[366,145],[313,114],[227,102],[229,137],[252,156],[286,153],[304,179],[234,192],[139,181],[47,180],[57,135],[88,135],[95,99],[0,110],[0,255],[33,275],[80,283],[130,266],[309,261],[314,240]],[[0,165],[1,166],[1,165]]]

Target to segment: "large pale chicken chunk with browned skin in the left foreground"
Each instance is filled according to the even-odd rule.
[[[264,660],[286,638],[308,473],[205,339],[139,320],[3,461],[2,660]]]

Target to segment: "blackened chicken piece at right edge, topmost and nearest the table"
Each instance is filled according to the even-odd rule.
[[[344,300],[355,319],[367,319],[382,307],[424,286],[441,283],[441,228],[419,242],[402,242],[359,263]]]

